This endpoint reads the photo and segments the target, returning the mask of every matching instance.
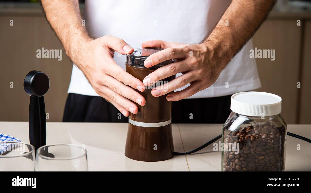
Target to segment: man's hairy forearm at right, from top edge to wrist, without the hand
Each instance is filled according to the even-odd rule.
[[[221,68],[243,48],[266,19],[275,0],[233,0],[203,44]]]

